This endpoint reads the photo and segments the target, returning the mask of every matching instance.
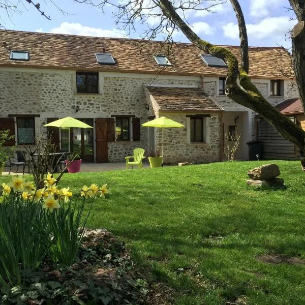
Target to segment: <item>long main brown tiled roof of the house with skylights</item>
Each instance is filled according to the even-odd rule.
[[[127,38],[98,38],[62,34],[45,34],[19,31],[0,31],[0,66],[31,66],[62,69],[83,69],[96,71],[130,71],[142,73],[162,72],[165,74],[206,74],[226,75],[227,68],[207,67],[199,54],[203,53],[193,44],[173,45],[173,56],[169,60],[173,66],[158,66],[153,55],[160,52],[161,42],[147,42],[141,49],[143,40]],[[240,58],[238,46],[225,46]],[[30,60],[10,60],[9,49],[30,52]],[[111,53],[116,65],[97,63],[95,52]],[[140,51],[141,49],[141,51]],[[162,48],[161,48],[162,49]],[[160,54],[162,51],[160,52]],[[290,69],[290,57],[281,47],[250,47],[250,76],[285,78],[278,65]],[[164,70],[162,70],[164,69]],[[289,73],[289,71],[285,71]]]

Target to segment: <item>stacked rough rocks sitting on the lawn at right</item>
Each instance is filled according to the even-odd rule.
[[[248,171],[248,186],[261,187],[284,187],[284,179],[278,178],[281,174],[279,166],[276,164],[265,164]]]

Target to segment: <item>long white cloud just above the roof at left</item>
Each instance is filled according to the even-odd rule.
[[[36,32],[43,32],[42,28],[36,30]],[[52,28],[48,33],[54,34],[69,34],[69,35],[81,35],[81,36],[95,36],[95,37],[126,37],[123,31],[118,29],[102,29],[97,27],[89,27],[80,23],[63,22],[58,27]]]

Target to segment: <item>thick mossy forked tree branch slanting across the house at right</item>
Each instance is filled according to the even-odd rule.
[[[277,111],[277,109],[262,96],[257,87],[251,82],[248,73],[245,70],[245,68],[247,70],[249,69],[247,67],[248,43],[245,42],[245,38],[247,38],[246,25],[245,20],[243,20],[243,15],[239,14],[241,9],[238,1],[234,0],[232,2],[235,4],[235,13],[238,15],[239,19],[239,33],[242,34],[243,39],[242,66],[244,68],[241,68],[240,70],[238,70],[238,60],[230,50],[212,45],[197,36],[188,24],[180,18],[169,0],[160,0],[160,6],[164,15],[171,19],[194,45],[211,55],[222,58],[227,63],[226,95],[236,103],[258,112],[269,124],[275,127],[284,138],[296,144],[300,150],[303,151],[305,150],[305,132],[292,123],[288,117]],[[236,82],[237,77],[239,77],[240,87]]]

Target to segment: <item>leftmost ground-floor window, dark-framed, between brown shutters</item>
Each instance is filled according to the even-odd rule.
[[[18,145],[35,143],[34,117],[17,117],[17,140]]]

